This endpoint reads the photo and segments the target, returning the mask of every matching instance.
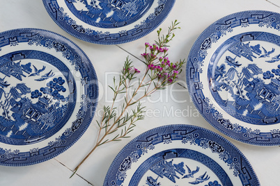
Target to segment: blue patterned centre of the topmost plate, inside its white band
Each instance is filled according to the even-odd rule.
[[[77,0],[64,0],[68,6],[70,12],[72,12],[75,17],[80,19],[86,24],[100,28],[117,28],[132,24],[140,19],[145,13],[150,9],[150,6],[153,4],[153,0],[134,0],[134,1],[103,1],[102,6],[105,6],[105,10],[99,9],[99,3],[93,4],[91,1],[83,1],[87,10],[77,10],[74,3],[77,3]],[[123,5],[121,5],[123,4]],[[106,6],[107,5],[107,6]],[[111,10],[116,11],[116,15],[113,17],[105,17]],[[132,13],[130,13],[132,12]],[[101,17],[103,19],[101,19]],[[98,19],[100,20],[98,21]],[[113,19],[113,21],[112,21]]]

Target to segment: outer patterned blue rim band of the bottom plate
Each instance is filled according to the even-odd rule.
[[[170,144],[173,141],[180,141],[182,144],[186,145],[200,146],[201,149],[211,149],[212,153],[218,153],[219,158],[233,169],[234,176],[240,178],[242,185],[260,185],[248,160],[233,144],[231,144],[231,142],[208,129],[182,124],[153,128],[135,137],[134,140],[129,142],[120,153],[116,155],[116,158],[109,167],[103,185],[123,185],[123,181],[126,178],[126,171],[131,168],[134,162],[137,162],[137,160],[146,153],[151,153],[151,155],[153,155],[153,149],[156,148],[157,144]],[[174,149],[162,150],[173,151]],[[163,153],[163,151],[161,153]],[[176,153],[177,151],[187,151],[187,148],[185,150],[176,149]],[[191,152],[191,154],[197,155],[196,151]],[[193,158],[196,159],[197,157]],[[148,162],[144,163],[147,164]],[[154,164],[151,164],[151,166],[152,165]],[[143,167],[146,169],[145,166]],[[143,167],[141,165],[141,169],[143,169]],[[143,176],[146,172],[146,170],[141,171],[141,169],[137,169],[138,175],[134,173],[137,180],[139,180],[139,175]],[[228,177],[225,175],[224,180],[222,180],[224,181],[222,185],[228,183],[226,178]],[[131,180],[130,184],[135,185],[134,180]]]

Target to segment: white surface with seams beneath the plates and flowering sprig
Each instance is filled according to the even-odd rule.
[[[180,31],[171,42],[169,59],[186,58],[195,40],[201,32],[217,19],[242,10],[270,10],[280,12],[279,0],[177,0],[169,17],[160,26],[163,31],[178,19]],[[156,31],[139,40],[127,44],[104,46],[87,43],[68,35],[57,26],[47,14],[40,0],[0,0],[0,31],[13,28],[41,28],[54,31],[75,42],[90,58],[100,83],[100,101],[98,110],[108,103],[107,83],[111,82],[109,74],[121,70],[127,56],[134,60],[134,66],[143,69],[141,58],[144,43],[156,39]],[[133,57],[135,56],[135,57]],[[180,75],[180,84],[185,86],[185,66]],[[191,124],[215,131],[207,121],[201,117],[189,98],[187,89],[176,84],[169,89],[158,92],[153,99],[146,100],[146,119],[139,121],[131,133],[132,137],[167,124]],[[165,109],[165,111],[164,111]],[[97,111],[98,111],[97,110]],[[166,112],[173,110],[173,112]],[[170,115],[168,115],[170,114]],[[77,175],[69,179],[79,161],[90,151],[97,127],[95,120],[100,119],[96,112],[93,123],[86,133],[70,149],[52,160],[28,167],[0,166],[0,185],[95,185],[103,184],[104,177],[111,162],[120,149],[132,138],[122,142],[100,146],[77,171]],[[224,136],[224,135],[222,135]],[[224,136],[225,137],[225,136]],[[280,148],[279,146],[263,147],[242,144],[229,139],[242,151],[251,162],[261,185],[280,185]]]

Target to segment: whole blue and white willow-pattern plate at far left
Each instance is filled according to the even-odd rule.
[[[98,101],[93,65],[67,38],[33,28],[0,33],[0,164],[54,158],[88,128]]]

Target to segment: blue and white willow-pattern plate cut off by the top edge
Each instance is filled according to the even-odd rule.
[[[159,26],[176,0],[42,0],[54,22],[95,44],[137,40]]]

